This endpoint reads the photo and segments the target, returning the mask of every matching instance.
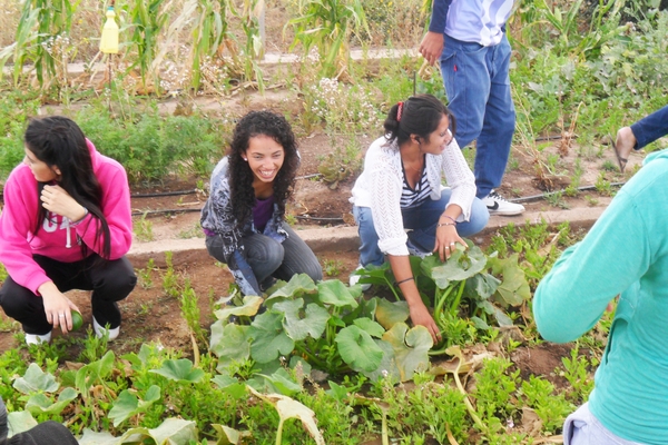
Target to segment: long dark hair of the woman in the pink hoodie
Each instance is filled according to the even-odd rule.
[[[101,247],[97,251],[101,253],[102,258],[109,259],[111,240],[109,225],[101,210],[102,188],[92,171],[90,151],[79,126],[62,116],[33,118],[28,123],[23,141],[38,160],[51,169],[58,167],[60,170],[58,185],[95,216],[88,224],[97,225],[95,243]],[[39,200],[45,185],[45,182],[37,182],[38,211],[33,234],[39,231],[47,217],[47,209]],[[86,244],[81,243],[84,256],[87,255],[87,250]]]

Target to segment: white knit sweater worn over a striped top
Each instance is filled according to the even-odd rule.
[[[446,207],[462,208],[459,220],[469,220],[475,198],[475,178],[454,138],[439,156],[426,155],[426,179],[430,198],[441,198],[441,177],[444,175],[452,197]],[[403,188],[403,170],[396,140],[385,137],[373,141],[364,158],[364,171],[355,181],[350,201],[357,207],[370,207],[379,235],[381,251],[393,256],[409,255],[407,236],[404,231],[399,205]]]

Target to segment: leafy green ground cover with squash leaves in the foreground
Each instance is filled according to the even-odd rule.
[[[321,436],[342,444],[382,443],[383,437],[406,444],[558,442],[563,416],[591,390],[605,323],[597,326],[598,337],[554,349],[531,326],[530,301],[521,297],[508,306],[501,293],[531,284],[531,271],[549,268],[578,237],[568,225],[510,226],[489,240],[485,254],[474,247],[466,258],[462,253],[460,269],[468,278],[459,283],[436,284],[443,266],[415,261],[430,300],[449,288],[459,293],[461,283],[464,289],[479,286],[479,279],[497,285],[487,299],[491,310],[480,310],[485,305],[477,293],[463,291],[459,305],[445,297],[448,343],[436,346],[445,348],[443,356],[430,356],[429,335],[405,325],[404,304],[396,301],[386,269],[371,278],[375,290],[365,296],[358,286],[347,288],[332,277],[317,286],[295,277],[271,289],[267,310],[253,317],[257,298],[240,299],[234,289],[224,293],[230,295],[225,299],[195,291],[196,277],[168,255],[164,264],[149,261],[138,270],[140,286],[158,297],[144,301],[151,307],[135,306],[136,313],[128,310],[132,301],[124,303],[124,326],[150,325],[148,314],[179,319],[183,343],[170,343],[178,334],[168,329],[151,342],[150,332],[135,327],[127,330],[135,338],[109,345],[89,330],[56,337],[48,347],[12,347],[0,356],[1,395],[10,400],[16,431],[53,418],[84,444],[139,437],[146,443],[166,437],[175,443],[321,443]],[[492,249],[515,253],[510,261],[515,266],[499,274]],[[348,264],[342,254],[323,258],[325,270],[345,279],[356,261],[355,253],[350,256]],[[534,265],[530,259],[538,256],[547,258]],[[525,274],[528,281],[510,278],[515,274]],[[178,314],[170,318],[158,306]],[[500,314],[512,325],[499,323],[505,319]],[[229,315],[237,317],[234,323]],[[3,329],[20,330],[7,319]],[[541,353],[543,359],[536,362]],[[304,428],[291,416],[312,426]]]

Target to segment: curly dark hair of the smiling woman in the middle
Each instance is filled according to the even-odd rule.
[[[274,178],[274,199],[281,217],[285,215],[285,202],[294,190],[295,175],[299,165],[297,142],[293,130],[283,116],[271,111],[250,111],[244,116],[234,129],[229,146],[229,190],[232,212],[239,228],[252,218],[255,206],[253,170],[242,155],[248,150],[250,138],[268,136],[283,147],[285,160]]]

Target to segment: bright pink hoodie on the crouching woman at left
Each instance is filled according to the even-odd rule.
[[[102,188],[101,210],[111,234],[111,258],[128,253],[132,241],[130,188],[125,169],[116,160],[100,155],[86,139],[92,159],[92,170]],[[4,209],[0,214],[0,263],[19,285],[32,290],[51,279],[35,263],[32,255],[42,255],[62,263],[82,259],[77,236],[89,251],[99,254],[95,243],[97,221],[88,215],[80,224],[71,225],[68,218],[47,212],[37,236],[32,235],[39,197],[37,180],[24,164],[17,166],[4,184]],[[49,218],[50,217],[50,218]],[[50,220],[49,220],[50,219]]]

